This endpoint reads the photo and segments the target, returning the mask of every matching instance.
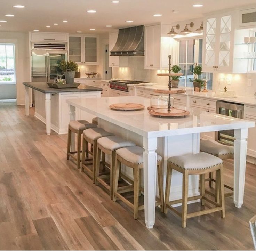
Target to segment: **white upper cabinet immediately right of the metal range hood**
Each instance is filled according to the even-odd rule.
[[[177,41],[169,37],[169,24],[145,26],[145,69],[168,69],[168,55],[172,55],[172,64],[176,63]]]

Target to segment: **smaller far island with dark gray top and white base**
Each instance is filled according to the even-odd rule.
[[[66,99],[97,98],[101,97],[101,88],[80,84],[78,88],[50,88],[46,82],[24,82],[25,110],[29,116],[29,88],[35,90],[34,116],[46,124],[46,133],[50,135],[51,129],[58,134],[67,133],[69,124],[69,108]],[[77,112],[76,119],[88,119],[88,114]],[[92,118],[92,116],[91,116]]]

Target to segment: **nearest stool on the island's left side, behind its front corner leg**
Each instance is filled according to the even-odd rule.
[[[138,218],[138,211],[144,209],[144,205],[139,206],[139,195],[143,188],[141,187],[142,170],[143,170],[143,148],[140,146],[130,146],[120,148],[116,151],[116,161],[113,169],[113,201],[117,198],[127,204],[133,209],[133,218]],[[118,177],[121,163],[127,167],[133,168],[133,203],[128,201],[121,193],[127,192],[126,187],[118,188]],[[162,157],[157,155],[157,173],[158,173],[158,189],[159,197],[156,198],[156,206],[161,205],[161,211],[163,212],[163,169],[162,169]],[[127,186],[129,188],[129,186]]]

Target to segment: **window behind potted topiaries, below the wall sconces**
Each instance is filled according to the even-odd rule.
[[[203,50],[203,39],[186,39],[179,41],[179,66],[183,76],[180,78],[179,86],[193,87],[194,79],[194,66],[202,66],[202,50]],[[213,86],[213,74],[207,81],[207,89],[211,90]],[[202,76],[199,76],[202,78]]]

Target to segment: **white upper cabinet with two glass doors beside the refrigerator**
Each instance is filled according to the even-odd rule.
[[[98,35],[69,35],[69,59],[79,64],[99,64]]]

